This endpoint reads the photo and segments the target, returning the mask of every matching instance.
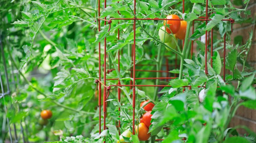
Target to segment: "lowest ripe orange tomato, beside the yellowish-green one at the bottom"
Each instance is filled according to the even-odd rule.
[[[146,141],[150,137],[150,133],[148,133],[148,127],[144,123],[139,123],[139,127],[135,126],[135,132],[138,133],[138,138],[141,141]]]

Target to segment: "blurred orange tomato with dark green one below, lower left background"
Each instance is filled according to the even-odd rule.
[[[38,124],[36,124],[37,130],[41,130],[44,125],[48,124],[48,119],[52,117],[51,110],[42,110],[41,118],[38,120]]]

